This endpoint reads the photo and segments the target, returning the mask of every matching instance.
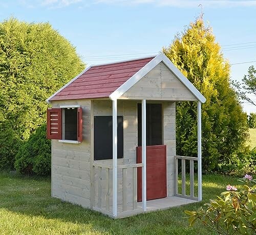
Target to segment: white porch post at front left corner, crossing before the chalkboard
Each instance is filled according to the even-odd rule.
[[[113,217],[117,217],[117,100],[113,100]]]

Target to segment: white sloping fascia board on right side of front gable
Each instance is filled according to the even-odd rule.
[[[169,60],[165,54],[160,54],[165,66],[174,73],[176,77],[184,84],[184,86],[201,102],[206,101],[205,97],[195,88],[195,86],[178,70],[178,68]]]

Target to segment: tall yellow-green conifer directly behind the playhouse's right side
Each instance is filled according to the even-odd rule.
[[[247,116],[230,87],[230,65],[211,28],[205,27],[200,17],[163,52],[206,98],[202,105],[204,169],[236,164],[248,138]],[[176,108],[177,154],[196,156],[196,102],[179,102]]]

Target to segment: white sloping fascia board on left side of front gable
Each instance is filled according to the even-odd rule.
[[[161,54],[157,55],[154,59],[148,62],[142,69],[140,69],[136,74],[131,78],[125,81],[118,89],[116,89],[111,95],[112,100],[118,99],[121,95],[129,90],[136,82],[138,82],[142,77],[144,77],[148,72],[154,69],[162,60],[160,57]]]

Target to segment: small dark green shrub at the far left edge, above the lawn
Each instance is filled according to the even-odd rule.
[[[0,124],[0,170],[14,169],[14,158],[22,144],[19,136],[9,128],[8,123]]]

